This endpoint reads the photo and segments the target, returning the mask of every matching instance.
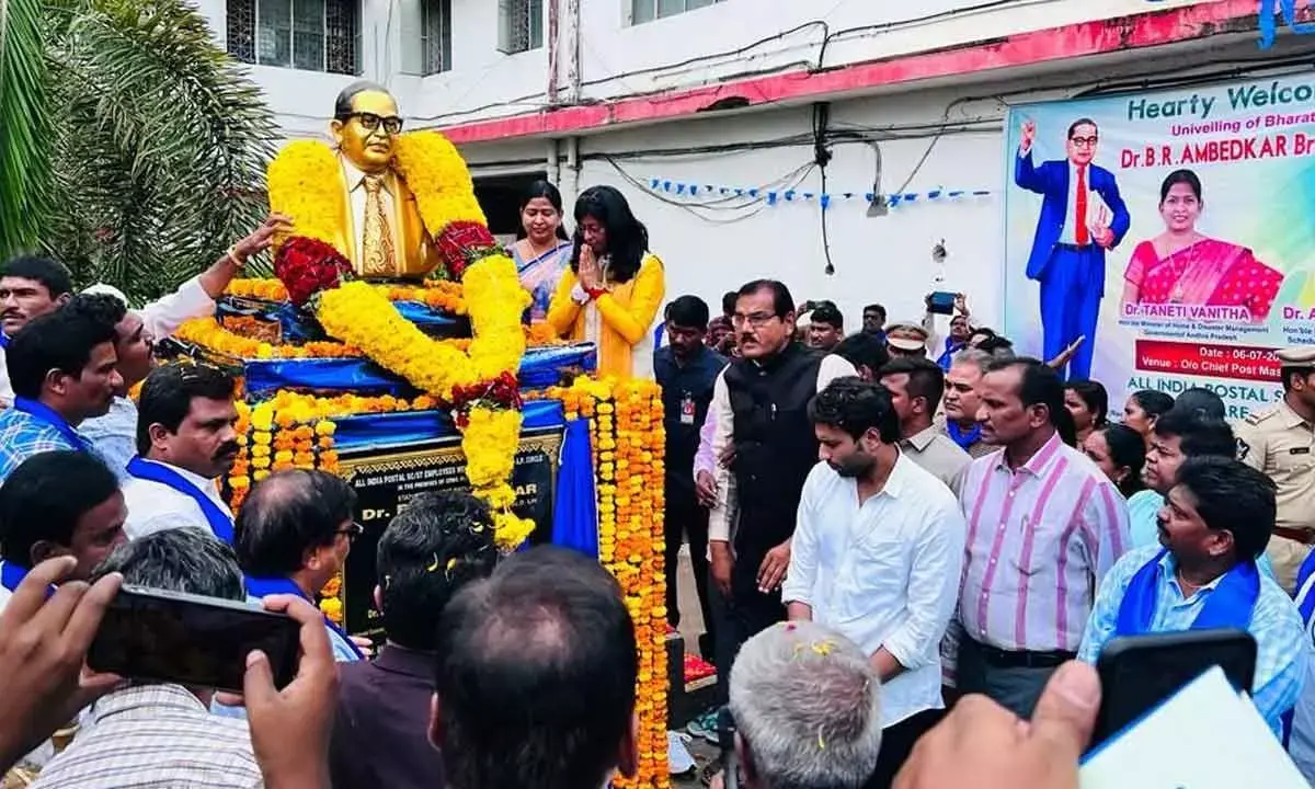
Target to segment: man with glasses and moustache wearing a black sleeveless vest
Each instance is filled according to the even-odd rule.
[[[717,665],[740,644],[785,619],[781,581],[803,480],[818,462],[809,401],[834,379],[856,375],[840,356],[794,342],[794,300],[776,280],[739,289],[731,317],[742,358],[717,379],[710,412],[718,504],[709,518],[713,584],[725,601]],[[722,633],[726,635],[722,636]],[[721,680],[729,672],[718,672]]]

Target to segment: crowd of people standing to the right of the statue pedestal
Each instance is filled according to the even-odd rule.
[[[675,300],[656,366],[667,552],[688,542],[709,573],[719,701],[735,709],[757,634],[830,627],[882,693],[881,747],[843,785],[892,786],[960,697],[1030,719],[1111,638],[1210,623],[1255,636],[1256,706],[1315,780],[1315,348],[1279,351],[1282,398],[1240,421],[1208,388],[1136,392],[1115,417],[1099,381],[1065,380],[1073,347],[1019,356],[961,296],[943,338],[930,309],[881,305],[846,335],[835,304],[796,308],[775,280],[722,308]],[[667,581],[675,601],[672,562]],[[689,732],[714,739],[715,714]]]

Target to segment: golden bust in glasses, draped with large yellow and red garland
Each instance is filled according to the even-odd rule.
[[[512,512],[509,484],[530,296],[447,138],[402,134],[397,103],[371,83],[338,96],[329,128],[334,146],[293,141],[270,163],[270,208],[292,220],[275,238],[275,276],[326,335],[451,410],[471,488],[492,508],[500,544],[515,547],[534,529]],[[426,335],[392,302],[396,288],[377,281],[426,277],[460,283],[468,345]]]

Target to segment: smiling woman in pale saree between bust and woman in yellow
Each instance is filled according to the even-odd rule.
[[[521,201],[521,231],[508,247],[521,275],[521,287],[530,293],[530,322],[548,316],[548,301],[571,264],[571,237],[562,227],[562,192],[548,181],[530,184]]]

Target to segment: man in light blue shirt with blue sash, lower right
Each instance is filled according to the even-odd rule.
[[[1274,529],[1274,483],[1227,458],[1193,458],[1160,510],[1160,544],[1134,548],[1105,576],[1078,659],[1111,638],[1230,627],[1256,639],[1252,700],[1274,730],[1306,677],[1306,633],[1287,593],[1260,572]]]

